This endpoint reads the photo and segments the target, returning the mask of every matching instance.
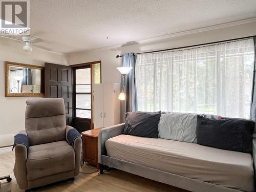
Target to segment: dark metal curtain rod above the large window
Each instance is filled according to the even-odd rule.
[[[247,36],[247,37],[240,37],[240,38],[234,38],[234,39],[229,39],[229,40],[207,42],[205,44],[198,44],[198,45],[193,45],[193,46],[184,46],[184,47],[177,47],[177,48],[170,48],[170,49],[162,49],[162,50],[157,50],[157,51],[148,51],[148,52],[142,52],[142,53],[134,53],[134,55],[146,54],[146,53],[157,53],[157,52],[171,51],[171,50],[176,50],[176,49],[185,49],[185,48],[198,47],[198,46],[206,46],[206,45],[210,45],[210,44],[220,44],[221,42],[235,41],[235,40],[246,39],[246,38],[253,38],[253,37],[256,37],[256,35]],[[123,56],[122,55],[116,55],[116,58],[119,58],[119,57],[123,57]]]

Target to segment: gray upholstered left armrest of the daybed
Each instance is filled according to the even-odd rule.
[[[121,135],[123,132],[124,123],[105,127],[100,130],[99,132],[99,143],[98,143],[98,162],[101,162],[101,155],[106,155],[106,149],[105,149],[105,141]]]

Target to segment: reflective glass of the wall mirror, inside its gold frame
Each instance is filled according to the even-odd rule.
[[[10,93],[40,93],[41,70],[10,66]]]

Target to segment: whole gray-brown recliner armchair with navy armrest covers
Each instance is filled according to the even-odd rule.
[[[27,100],[25,128],[15,136],[14,175],[20,189],[30,189],[79,174],[82,138],[66,126],[61,98]]]

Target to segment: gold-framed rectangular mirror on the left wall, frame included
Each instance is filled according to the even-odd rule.
[[[5,61],[5,96],[45,96],[45,68]]]

